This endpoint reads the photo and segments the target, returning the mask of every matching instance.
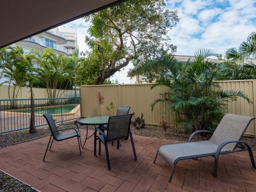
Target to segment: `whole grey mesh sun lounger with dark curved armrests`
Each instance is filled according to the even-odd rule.
[[[252,149],[247,143],[240,141],[246,128],[254,120],[253,116],[227,114],[223,116],[214,132],[196,131],[189,137],[188,143],[177,143],[159,147],[157,156],[161,156],[172,167],[170,182],[177,163],[183,159],[196,159],[198,157],[214,157],[213,175],[217,177],[218,161],[220,154],[228,154],[248,150],[252,167],[256,169]],[[212,134],[209,141],[191,142],[195,134],[206,132]],[[154,163],[156,163],[156,158]]]

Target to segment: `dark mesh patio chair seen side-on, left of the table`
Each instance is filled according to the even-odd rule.
[[[54,122],[54,119],[52,118],[52,115],[51,113],[45,113],[44,115],[44,118],[47,120],[47,124],[49,125],[49,128],[51,130],[51,137],[50,137],[50,140],[49,140],[49,143],[47,145],[47,148],[45,150],[45,154],[44,154],[44,159],[45,159],[45,156],[46,156],[46,153],[47,153],[47,150],[49,148],[49,144],[51,142],[51,139],[52,139],[52,142],[51,142],[51,146],[50,146],[50,149],[52,148],[52,143],[53,143],[53,140],[56,140],[56,141],[63,141],[63,140],[67,140],[67,139],[70,139],[70,138],[74,138],[74,137],[77,137],[77,141],[78,141],[78,146],[79,146],[79,151],[80,151],[80,155],[81,155],[81,148],[80,148],[80,145],[82,146],[82,143],[81,143],[81,136],[80,136],[80,131],[79,131],[79,128],[78,128],[78,125],[77,124],[72,124],[72,123],[69,123],[69,124],[61,124],[59,125],[58,127],[61,127],[61,126],[64,126],[64,125],[76,125],[77,126],[77,129],[75,128],[72,128],[72,127],[69,127],[69,128],[65,128],[65,129],[58,129],[58,127],[56,126],[55,122]],[[69,131],[69,132],[60,132],[60,131],[65,131],[65,130],[72,130],[72,131]]]

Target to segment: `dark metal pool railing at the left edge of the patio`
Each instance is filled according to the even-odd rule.
[[[56,123],[80,118],[80,97],[33,99],[35,126],[47,125],[42,116],[51,113]],[[31,99],[0,99],[0,134],[28,129]]]

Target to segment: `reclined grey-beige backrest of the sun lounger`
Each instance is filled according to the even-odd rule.
[[[254,116],[227,114],[223,116],[220,124],[212,134],[209,141],[216,145],[221,145],[224,141],[239,141],[250,122],[254,119]],[[225,149],[234,150],[236,148],[236,144],[237,143],[230,143],[225,146]]]

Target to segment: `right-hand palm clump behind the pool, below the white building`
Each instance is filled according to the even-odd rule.
[[[44,49],[44,52],[31,51],[31,58],[39,66],[35,71],[35,86],[47,88],[49,98],[61,97],[64,90],[72,88],[76,70],[76,61],[72,58],[57,55],[50,48]]]

